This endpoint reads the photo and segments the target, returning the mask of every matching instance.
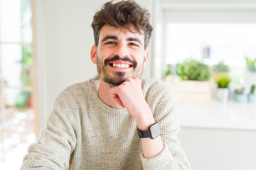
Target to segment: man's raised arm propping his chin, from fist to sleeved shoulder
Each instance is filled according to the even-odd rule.
[[[149,108],[146,103],[137,78],[127,79],[124,84],[113,88],[111,93],[121,106],[127,108],[129,114],[137,121],[139,129],[147,130],[154,122],[159,122],[161,125],[161,137],[156,137],[154,140],[142,139],[144,169],[189,169],[186,154],[177,137],[179,130],[177,103],[169,88],[159,93],[161,96],[148,96],[155,98],[151,102],[156,105],[150,105],[154,108]]]

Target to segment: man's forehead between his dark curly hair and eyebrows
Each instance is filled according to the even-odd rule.
[[[114,35],[117,36],[117,38],[139,38],[140,40],[144,41],[144,33],[137,33],[136,31],[131,32],[125,28],[116,28],[113,26],[105,25],[100,30],[99,40],[102,40],[107,35]]]

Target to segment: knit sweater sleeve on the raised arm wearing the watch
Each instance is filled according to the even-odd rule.
[[[160,91],[158,89],[158,91]],[[156,157],[146,159],[141,154],[143,169],[146,170],[187,170],[190,164],[186,154],[181,147],[177,134],[180,130],[178,125],[178,103],[174,91],[170,86],[165,85],[161,93],[151,96],[156,103],[152,112],[154,119],[161,126],[161,139],[164,142],[164,149]]]

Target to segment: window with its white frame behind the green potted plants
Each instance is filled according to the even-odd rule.
[[[196,59],[213,67],[224,62],[236,84],[245,83],[245,57],[256,60],[256,11],[250,2],[161,1],[161,52],[155,48],[154,72],[164,77],[166,64]],[[159,29],[158,29],[159,28]],[[157,68],[158,67],[158,68]],[[174,69],[173,69],[174,71]]]

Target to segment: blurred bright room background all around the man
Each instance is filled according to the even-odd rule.
[[[0,169],[19,169],[60,91],[97,74],[105,2],[0,0]],[[173,87],[192,169],[256,170],[256,0],[137,2],[154,27],[143,76]]]

